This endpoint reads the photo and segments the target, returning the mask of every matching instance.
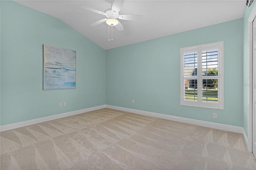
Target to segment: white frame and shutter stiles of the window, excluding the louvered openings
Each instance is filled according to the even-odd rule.
[[[195,45],[191,47],[180,48],[180,105],[204,107],[210,109],[224,109],[224,42],[207,43],[203,45]],[[202,51],[218,49],[218,76],[203,76],[202,75]],[[184,53],[197,53],[197,76],[184,77]],[[197,101],[187,101],[185,99],[184,81],[188,79],[197,80]],[[218,79],[218,103],[202,101],[202,81],[203,79]]]

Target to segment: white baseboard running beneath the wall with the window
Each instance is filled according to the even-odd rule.
[[[237,132],[237,133],[243,134],[244,139],[247,138],[246,135],[245,135],[245,132],[244,132],[244,128],[242,128],[242,127],[236,127],[236,126],[224,125],[224,124],[220,124],[220,123],[212,123],[212,122],[206,122],[206,121],[199,121],[199,120],[195,120],[195,119],[188,119],[188,118],[183,118],[183,117],[164,115],[164,114],[160,114],[160,113],[140,111],[140,110],[135,110],[135,109],[128,109],[128,108],[117,107],[117,106],[112,106],[112,105],[106,105],[106,108],[115,109],[115,110],[119,110],[119,111],[126,111],[126,112],[136,113],[136,114],[140,114],[140,115],[158,117],[158,118],[162,118],[162,119],[168,119],[168,120],[171,120],[171,121],[190,123],[190,124],[199,125],[199,126],[202,126],[202,127],[209,127],[209,128],[220,129],[220,130],[227,130],[227,131],[230,131],[230,132]],[[247,143],[247,141],[246,141],[246,143]]]

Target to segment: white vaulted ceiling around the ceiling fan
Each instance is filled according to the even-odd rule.
[[[103,49],[111,49],[202,28],[243,17],[245,0],[125,0],[120,15],[143,15],[142,21],[119,20],[124,30],[113,27],[108,41],[108,25],[90,24],[106,18],[83,8],[105,12],[111,0],[15,0],[20,4],[59,18]],[[110,29],[111,30],[111,29]],[[110,33],[111,39],[111,33]]]

